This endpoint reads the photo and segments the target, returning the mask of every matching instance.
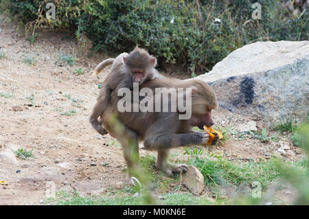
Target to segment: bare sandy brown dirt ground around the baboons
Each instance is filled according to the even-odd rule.
[[[108,69],[100,79],[91,76],[102,54],[78,56],[77,41],[67,33],[38,32],[30,45],[14,23],[0,18],[0,205],[38,205],[51,191],[78,189],[83,194],[104,194],[108,187],[126,181],[126,163],[122,149],[111,136],[101,137],[89,124],[89,115]],[[23,28],[21,28],[23,29]],[[59,64],[58,54],[75,54],[76,65]],[[36,58],[35,65],[23,60]],[[84,74],[76,74],[78,68]],[[10,95],[12,93],[12,96]],[[26,97],[34,95],[32,102]],[[20,106],[21,111],[14,111]],[[16,107],[15,107],[16,108]],[[71,115],[62,115],[70,112]],[[76,113],[72,113],[76,112]],[[69,114],[69,113],[67,113]],[[255,119],[258,130],[262,121],[234,115],[218,109],[218,126],[231,127]],[[301,157],[301,150],[286,159]],[[12,150],[33,150],[34,157],[16,158]],[[275,142],[231,137],[209,151],[222,151],[228,159],[268,158],[279,148]],[[178,149],[184,152],[183,149]],[[141,156],[150,154],[141,149]],[[108,165],[107,165],[108,163]]]

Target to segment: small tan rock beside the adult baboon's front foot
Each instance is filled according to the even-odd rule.
[[[182,183],[190,189],[193,194],[198,196],[204,189],[204,176],[196,167],[190,165],[187,168],[187,172],[183,174]]]

